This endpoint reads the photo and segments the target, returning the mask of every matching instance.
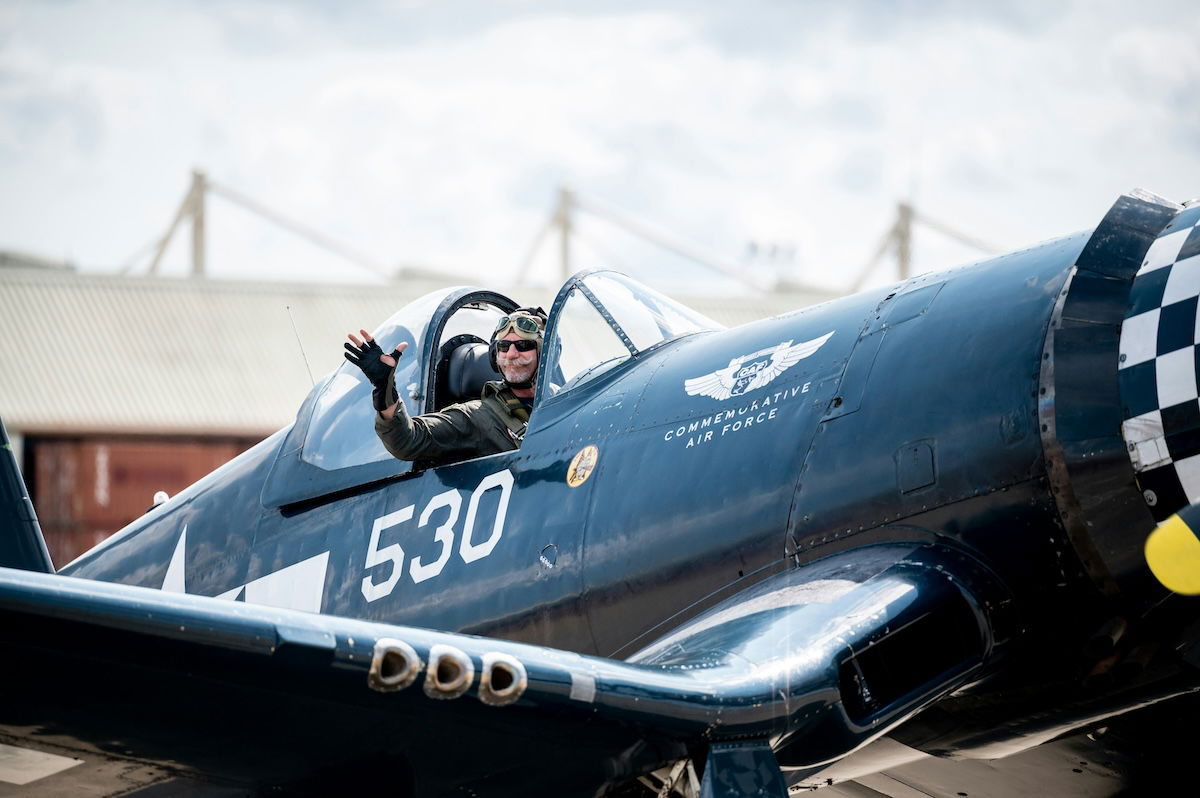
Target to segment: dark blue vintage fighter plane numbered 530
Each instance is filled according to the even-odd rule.
[[[58,574],[6,452],[0,779],[1163,788],[1200,624],[1142,545],[1200,498],[1198,222],[1132,192],[1093,230],[728,330],[582,272],[518,450],[391,458],[343,365]],[[478,395],[516,305],[446,289],[373,331],[408,344],[409,413]]]

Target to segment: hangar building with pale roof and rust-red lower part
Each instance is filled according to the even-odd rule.
[[[54,564],[288,425],[312,377],[342,362],[348,331],[445,284],[128,277],[0,258],[0,418]],[[487,287],[547,308],[553,296]],[[676,298],[732,326],[830,295]]]

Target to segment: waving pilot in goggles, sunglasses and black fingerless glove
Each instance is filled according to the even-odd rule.
[[[374,386],[376,434],[389,452],[400,460],[468,460],[521,446],[533,409],[545,330],[546,312],[540,307],[521,307],[502,317],[492,332],[490,355],[503,382],[486,383],[478,400],[415,418],[400,401],[395,382],[396,364],[407,343],[384,354],[366,330],[359,330],[361,341],[353,332],[348,336],[346,359]]]

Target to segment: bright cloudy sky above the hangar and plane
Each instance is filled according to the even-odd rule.
[[[0,250],[144,271],[196,167],[385,270],[509,282],[565,185],[845,286],[901,199],[1015,248],[1200,196],[1200,4],[0,0]],[[577,223],[575,266],[720,287]],[[222,197],[208,230],[215,276],[378,280]]]

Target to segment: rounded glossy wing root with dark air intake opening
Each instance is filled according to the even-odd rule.
[[[660,690],[600,677],[596,702],[626,712],[695,703],[686,714],[709,725],[709,739],[773,736],[781,766],[812,766],[978,677],[1008,626],[992,610],[1003,595],[954,548],[846,551],[767,580],[630,658],[658,671],[649,678]]]

